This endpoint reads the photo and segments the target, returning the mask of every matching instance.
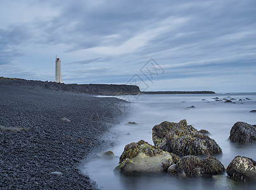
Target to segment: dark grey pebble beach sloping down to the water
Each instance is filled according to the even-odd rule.
[[[0,189],[97,189],[78,169],[117,123],[116,98],[0,84]],[[104,116],[104,117],[103,117]],[[63,122],[68,117],[71,122]],[[106,144],[108,146],[108,144]]]

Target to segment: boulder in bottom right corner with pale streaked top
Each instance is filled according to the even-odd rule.
[[[226,171],[235,181],[256,181],[256,162],[252,158],[236,156],[229,163]]]

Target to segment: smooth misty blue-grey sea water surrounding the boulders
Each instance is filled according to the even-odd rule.
[[[215,101],[220,99],[236,98],[234,103]],[[228,99],[231,99],[228,98]],[[252,100],[238,101],[238,99],[250,98]],[[132,99],[132,96],[131,96]],[[206,99],[206,100],[202,100]],[[195,108],[188,108],[195,106]],[[167,120],[179,122],[186,119],[189,125],[196,129],[206,129],[210,137],[221,146],[222,154],[215,155],[224,167],[237,155],[247,156],[256,160],[256,145],[239,145],[230,143],[229,132],[234,123],[241,121],[248,124],[256,124],[256,93],[230,93],[230,94],[165,94],[165,95],[141,95],[131,104],[131,113],[128,117],[106,134],[105,139],[116,139],[115,146],[107,150],[113,151],[117,158],[112,160],[94,159],[86,163],[82,171],[89,174],[101,189],[223,189],[227,177],[222,181],[212,178],[179,179],[169,174],[159,175],[124,175],[114,172],[118,165],[118,159],[124,151],[124,146],[131,142],[143,139],[153,144],[151,139],[152,127]],[[136,122],[137,125],[129,125],[128,122]],[[255,189],[256,184],[236,183],[236,189]]]

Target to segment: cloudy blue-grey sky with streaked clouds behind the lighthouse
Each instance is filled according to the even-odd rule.
[[[0,76],[256,92],[256,1],[1,0]]]

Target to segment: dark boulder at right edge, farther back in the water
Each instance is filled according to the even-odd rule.
[[[230,130],[229,139],[234,143],[255,143],[256,125],[245,122],[236,122]]]

